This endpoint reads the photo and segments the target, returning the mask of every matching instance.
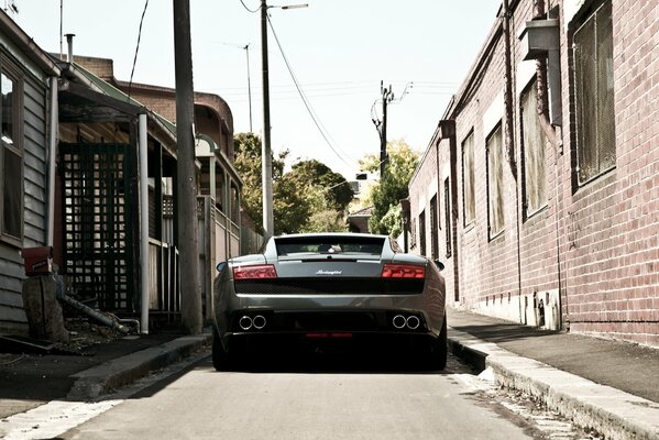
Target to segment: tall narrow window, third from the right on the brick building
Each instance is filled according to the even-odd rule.
[[[504,166],[502,127],[487,138],[487,207],[490,239],[504,230]]]

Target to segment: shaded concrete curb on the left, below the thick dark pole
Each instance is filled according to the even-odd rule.
[[[152,371],[171,365],[201,346],[210,344],[210,333],[187,336],[106,362],[76,373],[69,400],[89,400],[112,389],[128,385]]]

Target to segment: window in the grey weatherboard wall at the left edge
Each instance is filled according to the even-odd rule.
[[[0,238],[23,242],[22,80],[20,70],[0,56]]]

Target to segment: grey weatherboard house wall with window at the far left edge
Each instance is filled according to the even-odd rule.
[[[23,248],[52,242],[59,67],[0,11],[0,333],[26,332]]]

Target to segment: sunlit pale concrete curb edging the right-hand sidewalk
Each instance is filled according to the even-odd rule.
[[[449,350],[477,369],[491,367],[497,384],[530,394],[606,439],[659,439],[659,404],[651,400],[518,356],[450,327]]]

